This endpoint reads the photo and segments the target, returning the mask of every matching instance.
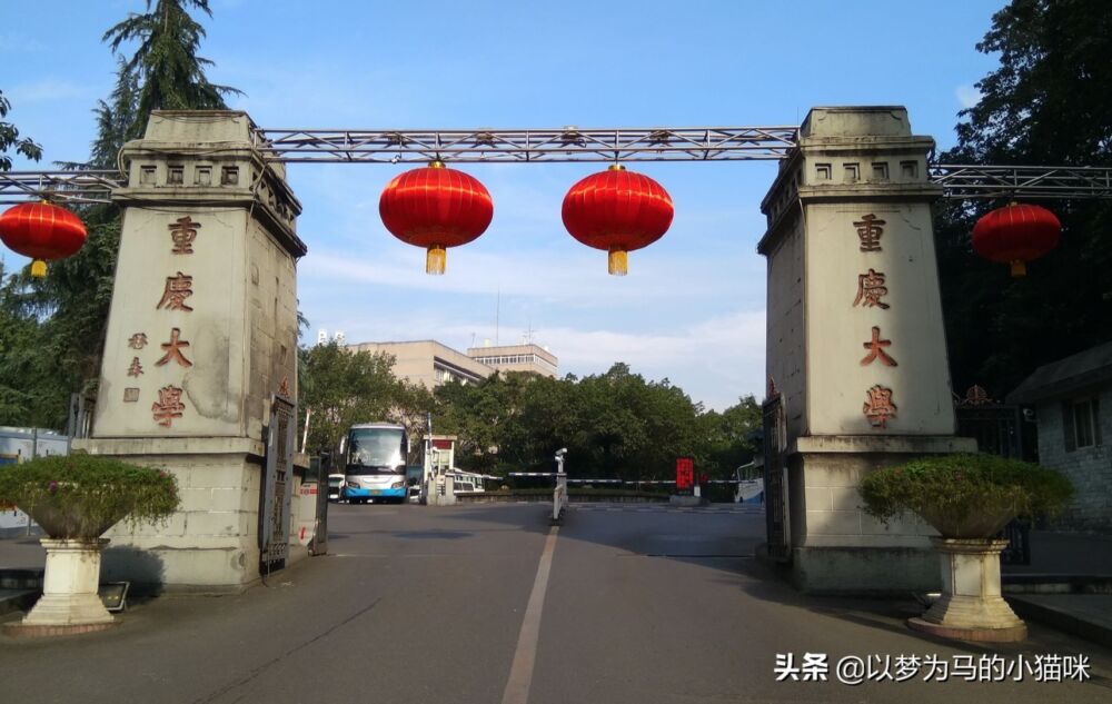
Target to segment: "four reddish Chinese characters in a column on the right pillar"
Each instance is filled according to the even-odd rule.
[[[864,252],[883,251],[881,248],[881,237],[884,235],[885,220],[877,219],[873,214],[861,216],[860,220],[853,221],[853,227],[857,231],[858,249]],[[853,299],[854,307],[877,308],[887,310],[891,306],[884,303],[883,298],[888,295],[884,272],[870,268],[865,274],[857,275],[857,296]],[[872,326],[872,338],[862,344],[866,354],[861,358],[860,365],[868,367],[874,363],[881,366],[895,367],[895,358],[886,351],[892,346],[892,340],[881,338],[881,328]],[[887,423],[896,417],[896,405],[892,401],[892,389],[874,385],[865,391],[865,403],[861,408],[862,414],[874,428],[887,429]]]

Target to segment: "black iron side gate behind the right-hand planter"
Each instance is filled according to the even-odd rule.
[[[1023,445],[1023,418],[1019,406],[1009,406],[992,399],[980,386],[973,386],[965,398],[954,405],[959,437],[976,439],[982,453],[1027,459]],[[1001,535],[1007,547],[1000,554],[1005,565],[1031,564],[1031,523],[1013,520]]]

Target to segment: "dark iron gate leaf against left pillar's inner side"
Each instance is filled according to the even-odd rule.
[[[259,572],[286,566],[289,556],[289,513],[294,490],[294,433],[296,407],[275,396],[267,428],[267,458],[259,510]]]

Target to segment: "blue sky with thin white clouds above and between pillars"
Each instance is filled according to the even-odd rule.
[[[903,105],[953,143],[956,113],[995,66],[975,51],[1003,0],[951,2],[327,2],[210,0],[209,78],[270,128],[550,128],[798,125],[812,106]],[[40,165],[88,156],[111,91],[100,38],[141,0],[0,6],[8,119]],[[637,163],[672,195],[672,229],[629,276],[567,235],[564,194],[598,165],[463,167],[495,202],[487,232],[443,277],[395,240],[378,197],[401,167],[292,165],[309,245],[298,296],[348,341],[534,339],[579,376],[628,363],[723,409],[764,389],[761,198],[774,162]],[[10,262],[23,260],[6,252]],[[500,300],[500,304],[498,301]],[[498,326],[496,329],[496,309]]]

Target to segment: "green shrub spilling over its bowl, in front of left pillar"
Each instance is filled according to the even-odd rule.
[[[51,538],[96,538],[125,518],[165,520],[178,502],[173,476],[113,457],[53,455],[0,468],[0,504],[26,510]]]

